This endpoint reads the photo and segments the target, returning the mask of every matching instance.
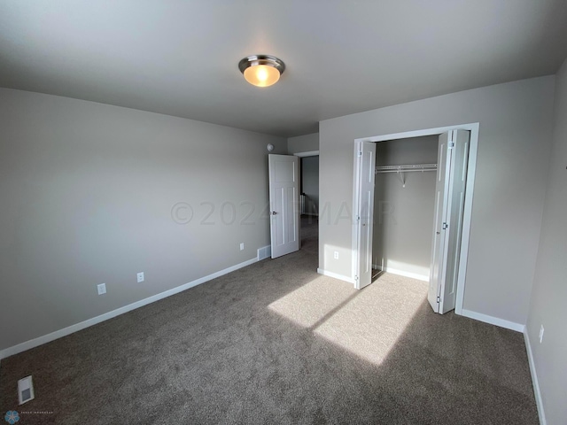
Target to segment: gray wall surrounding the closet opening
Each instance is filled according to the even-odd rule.
[[[515,81],[321,121],[320,203],[328,217],[320,212],[319,267],[351,276],[354,139],[479,122],[463,307],[524,324],[540,238],[554,81]]]

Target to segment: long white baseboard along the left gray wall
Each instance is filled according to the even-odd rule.
[[[136,303],[124,305],[123,307],[117,308],[116,310],[113,310],[112,312],[101,314],[97,317],[93,317],[92,319],[88,319],[86,321],[76,323],[74,325],[68,326],[67,328],[62,328],[62,329],[56,330],[55,332],[51,332],[50,334],[47,334],[47,335],[44,335],[44,336],[38,336],[37,338],[30,339],[29,341],[26,341],[25,343],[21,343],[21,344],[18,344],[18,345],[14,345],[12,347],[5,348],[4,350],[0,351],[0,359],[5,359],[6,357],[13,356],[14,354],[18,354],[19,352],[25,352],[25,351],[27,351],[31,348],[35,348],[39,345],[50,343],[51,341],[54,341],[54,340],[61,338],[63,336],[73,334],[74,332],[77,332],[77,331],[82,330],[84,328],[89,328],[90,326],[96,325],[97,323],[100,323],[102,321],[107,321],[109,319],[112,319],[113,317],[120,316],[120,314],[128,313],[128,312],[131,312],[132,310],[136,310],[136,308],[143,307],[144,305],[148,305],[148,304],[154,303],[156,301],[159,301],[160,299],[171,297],[172,295],[178,294],[179,292],[182,292],[183,290],[189,290],[190,288],[193,288],[194,286],[200,285],[201,283],[211,281],[211,280],[213,280],[217,277],[222,276],[223,274],[229,274],[230,272],[234,272],[235,270],[238,270],[239,268],[250,266],[251,264],[253,264],[257,261],[258,261],[258,259],[248,259],[244,263],[240,263],[240,264],[237,264],[235,266],[225,268],[224,270],[221,270],[219,272],[215,272],[214,274],[208,274],[208,275],[201,277],[201,278],[199,278],[195,281],[185,283],[185,284],[178,286],[176,288],[173,288],[171,290],[166,290],[166,291],[161,292],[159,294],[153,295],[149,298],[144,298],[140,301],[136,301]]]

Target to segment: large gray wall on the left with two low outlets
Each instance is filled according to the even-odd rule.
[[[283,138],[10,89],[0,89],[0,128],[0,350],[269,243],[266,145],[286,153]],[[172,217],[180,202],[194,209],[187,224]]]

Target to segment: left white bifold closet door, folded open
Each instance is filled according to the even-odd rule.
[[[372,282],[372,228],[374,221],[374,180],[376,143],[360,142],[355,149],[354,219],[356,227],[356,270],[354,288],[361,290]]]

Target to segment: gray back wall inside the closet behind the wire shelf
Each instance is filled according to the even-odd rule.
[[[376,165],[435,164],[439,137],[377,143]],[[435,172],[376,174],[374,191],[375,265],[429,277],[435,207]]]

